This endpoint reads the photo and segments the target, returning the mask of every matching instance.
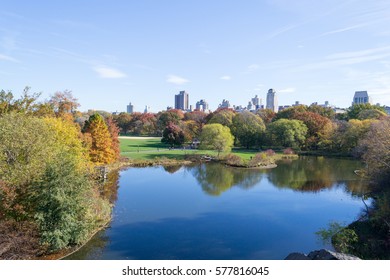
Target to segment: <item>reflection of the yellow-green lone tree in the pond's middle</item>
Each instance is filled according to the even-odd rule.
[[[221,195],[232,187],[250,189],[260,183],[264,170],[233,168],[210,163],[187,167],[203,191],[210,195]]]

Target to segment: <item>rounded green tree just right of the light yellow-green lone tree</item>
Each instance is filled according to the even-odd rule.
[[[232,131],[236,140],[249,149],[259,145],[265,131],[265,125],[259,116],[244,111],[234,116]]]

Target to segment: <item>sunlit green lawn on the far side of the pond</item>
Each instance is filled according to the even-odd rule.
[[[215,151],[191,150],[191,149],[169,149],[169,145],[161,143],[159,137],[147,138],[120,138],[121,155],[129,159],[151,160],[156,157],[166,157],[170,159],[184,159],[186,155],[211,155],[217,156]],[[250,160],[259,151],[233,149],[232,153],[240,156],[244,160]],[[278,159],[282,154],[276,154]]]

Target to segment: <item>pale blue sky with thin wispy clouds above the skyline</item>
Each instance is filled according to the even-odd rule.
[[[45,100],[70,90],[82,111],[152,112],[268,89],[349,107],[355,91],[390,106],[388,0],[0,0],[0,90]]]

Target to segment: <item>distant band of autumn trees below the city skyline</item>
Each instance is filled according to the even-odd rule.
[[[173,109],[157,114],[120,113],[113,118],[122,134],[161,136],[171,145],[200,139],[206,125],[221,124],[230,129],[236,147],[291,147],[352,155],[361,153],[359,140],[386,116],[383,107],[359,104],[344,114],[317,105],[299,105],[276,114],[268,109],[240,113],[218,109],[210,114]]]

